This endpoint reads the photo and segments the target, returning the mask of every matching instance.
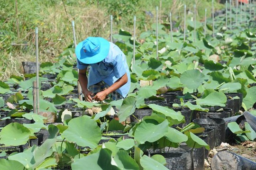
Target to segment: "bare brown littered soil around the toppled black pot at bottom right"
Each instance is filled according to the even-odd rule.
[[[234,152],[240,156],[243,156],[247,159],[250,159],[256,162],[256,142],[246,141],[240,144],[221,143],[220,146],[215,147],[213,150],[210,151],[209,158],[208,158],[209,165],[212,157],[219,151]],[[204,170],[211,170],[211,168],[205,166]]]

